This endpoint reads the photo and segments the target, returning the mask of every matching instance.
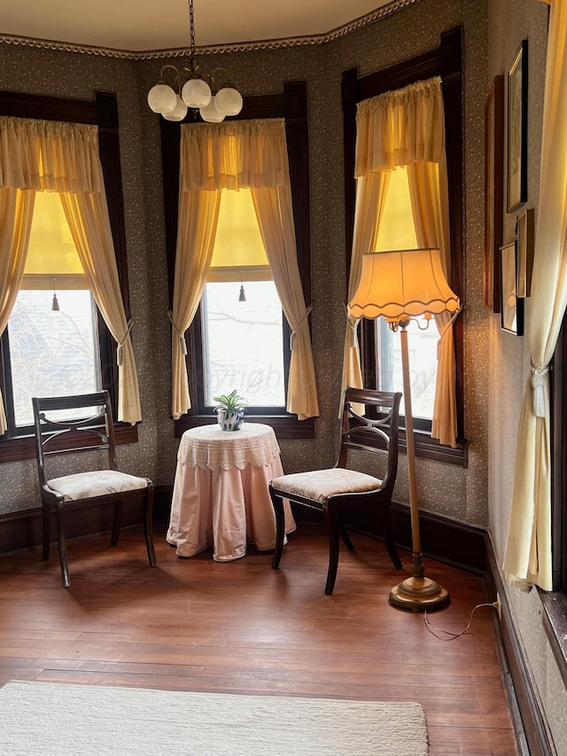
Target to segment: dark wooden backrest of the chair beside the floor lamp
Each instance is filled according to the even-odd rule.
[[[400,392],[373,391],[348,387],[343,403],[343,417],[338,451],[338,467],[345,467],[350,449],[387,454],[383,491],[392,495],[398,472],[400,435]],[[364,417],[353,404],[365,404]]]

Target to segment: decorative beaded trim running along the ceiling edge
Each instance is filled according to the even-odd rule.
[[[259,42],[243,42],[210,45],[208,47],[199,47],[198,55],[213,55],[223,52],[252,52],[259,50],[281,50],[287,47],[305,47],[307,45],[324,44],[340,37],[346,36],[357,29],[369,26],[375,21],[391,16],[409,5],[415,5],[419,0],[392,0],[392,3],[377,8],[376,11],[361,16],[360,19],[354,19],[342,27],[332,29],[323,35],[287,37],[285,39],[260,40]],[[42,50],[57,50],[65,52],[79,52],[83,55],[96,55],[105,58],[122,58],[127,60],[151,60],[156,58],[183,58],[189,55],[188,47],[178,47],[173,50],[146,50],[146,51],[128,51],[113,50],[105,47],[96,47],[86,44],[55,42],[46,39],[34,39],[32,37],[17,35],[0,35],[0,43],[17,44],[22,47],[35,47]]]

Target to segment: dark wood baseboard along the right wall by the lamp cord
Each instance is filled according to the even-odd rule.
[[[501,602],[501,620],[495,620],[495,631],[504,659],[504,679],[509,678],[511,686],[507,690],[513,696],[509,701],[510,711],[517,731],[517,743],[525,756],[555,756],[555,746],[549,734],[547,719],[540,702],[540,696],[532,680],[530,667],[524,651],[524,644],[512,619],[507,590],[501,579],[493,542],[486,534],[488,572],[486,573],[486,593],[489,601]],[[522,747],[523,746],[523,747]],[[525,750],[524,750],[525,749]]]

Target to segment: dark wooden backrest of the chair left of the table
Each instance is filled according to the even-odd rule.
[[[35,454],[40,483],[45,457],[106,452],[109,470],[116,470],[113,409],[107,391],[76,396],[34,397]],[[69,419],[71,418],[71,419]]]

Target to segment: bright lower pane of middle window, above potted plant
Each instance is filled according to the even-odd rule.
[[[273,281],[208,283],[203,313],[205,403],[235,388],[252,407],[284,407],[283,313]]]

